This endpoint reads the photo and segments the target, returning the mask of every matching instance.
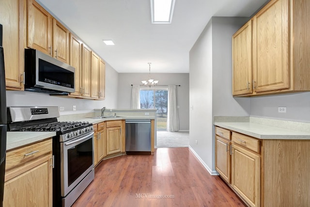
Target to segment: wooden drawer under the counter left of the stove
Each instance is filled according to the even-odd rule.
[[[52,152],[52,139],[6,152],[5,170]]]

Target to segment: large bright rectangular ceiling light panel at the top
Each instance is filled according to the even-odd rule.
[[[175,0],[151,0],[153,24],[170,24]]]

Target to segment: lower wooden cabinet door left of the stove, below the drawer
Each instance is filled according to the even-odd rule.
[[[30,161],[9,175],[4,183],[5,207],[52,207],[51,154]],[[6,177],[7,174],[5,175]]]

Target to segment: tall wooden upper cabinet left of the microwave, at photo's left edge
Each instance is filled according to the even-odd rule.
[[[0,1],[0,24],[3,26],[6,88],[24,90],[23,73],[23,0]]]

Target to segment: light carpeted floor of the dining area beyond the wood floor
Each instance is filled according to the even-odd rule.
[[[157,131],[157,144],[155,147],[188,147],[188,131]]]

